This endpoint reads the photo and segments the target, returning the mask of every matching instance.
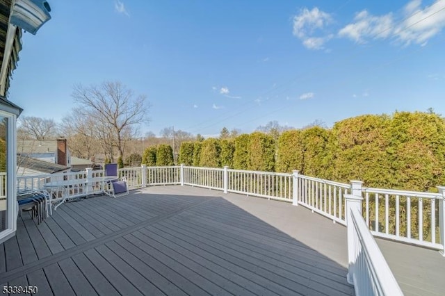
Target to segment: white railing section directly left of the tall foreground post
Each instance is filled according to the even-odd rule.
[[[303,176],[296,173],[294,173],[294,176],[296,176],[297,182],[298,204],[329,217],[334,222],[346,225],[345,195],[350,192],[350,184]]]

